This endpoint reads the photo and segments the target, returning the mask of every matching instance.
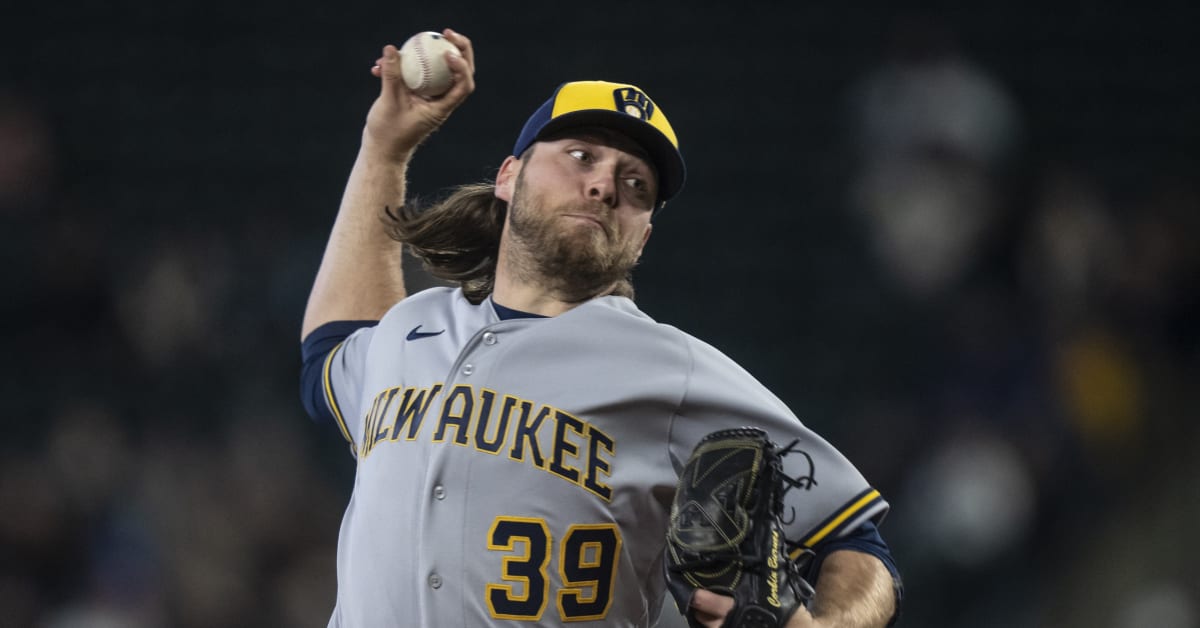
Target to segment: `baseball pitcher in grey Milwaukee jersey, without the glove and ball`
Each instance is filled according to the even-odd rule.
[[[442,97],[408,91],[392,46],[372,68],[380,94],[304,318],[305,407],[358,465],[329,626],[652,626],[682,461],[739,425],[803,451],[786,456],[804,480],[787,534],[821,564],[790,626],[886,624],[899,587],[878,491],[746,371],[630,299],[650,219],[685,177],[644,91],[565,83],[494,181],[400,207],[415,148],[474,90],[470,42],[444,35],[462,56]],[[397,240],[458,287],[407,295]],[[701,591],[689,612],[715,626],[731,604]]]

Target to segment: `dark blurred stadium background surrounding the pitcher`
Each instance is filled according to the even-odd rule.
[[[691,178],[638,303],[889,498],[901,626],[1200,626],[1196,5],[808,5],[0,8],[0,623],[325,626],[354,467],[300,317],[370,66],[452,26],[410,192],[644,88]]]

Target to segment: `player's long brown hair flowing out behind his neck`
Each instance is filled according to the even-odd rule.
[[[494,183],[476,183],[455,187],[428,208],[418,203],[395,211],[384,208],[384,223],[388,235],[407,245],[426,271],[458,285],[467,300],[478,304],[496,288],[508,213],[508,202],[496,197]],[[632,277],[626,274],[606,294],[632,299]]]

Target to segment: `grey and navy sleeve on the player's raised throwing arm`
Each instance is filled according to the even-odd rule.
[[[356,450],[360,442],[359,393],[366,367],[367,348],[377,321],[336,321],[314,329],[301,345],[301,401],[317,421],[337,425],[342,437]]]

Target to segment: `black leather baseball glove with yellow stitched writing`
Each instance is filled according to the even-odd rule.
[[[797,480],[784,474],[767,432],[755,427],[706,436],[684,465],[671,506],[665,567],[667,588],[692,628],[691,594],[707,588],[733,597],[725,628],[787,623],[812,599],[802,569],[811,558],[788,558],[781,514],[784,494]]]

